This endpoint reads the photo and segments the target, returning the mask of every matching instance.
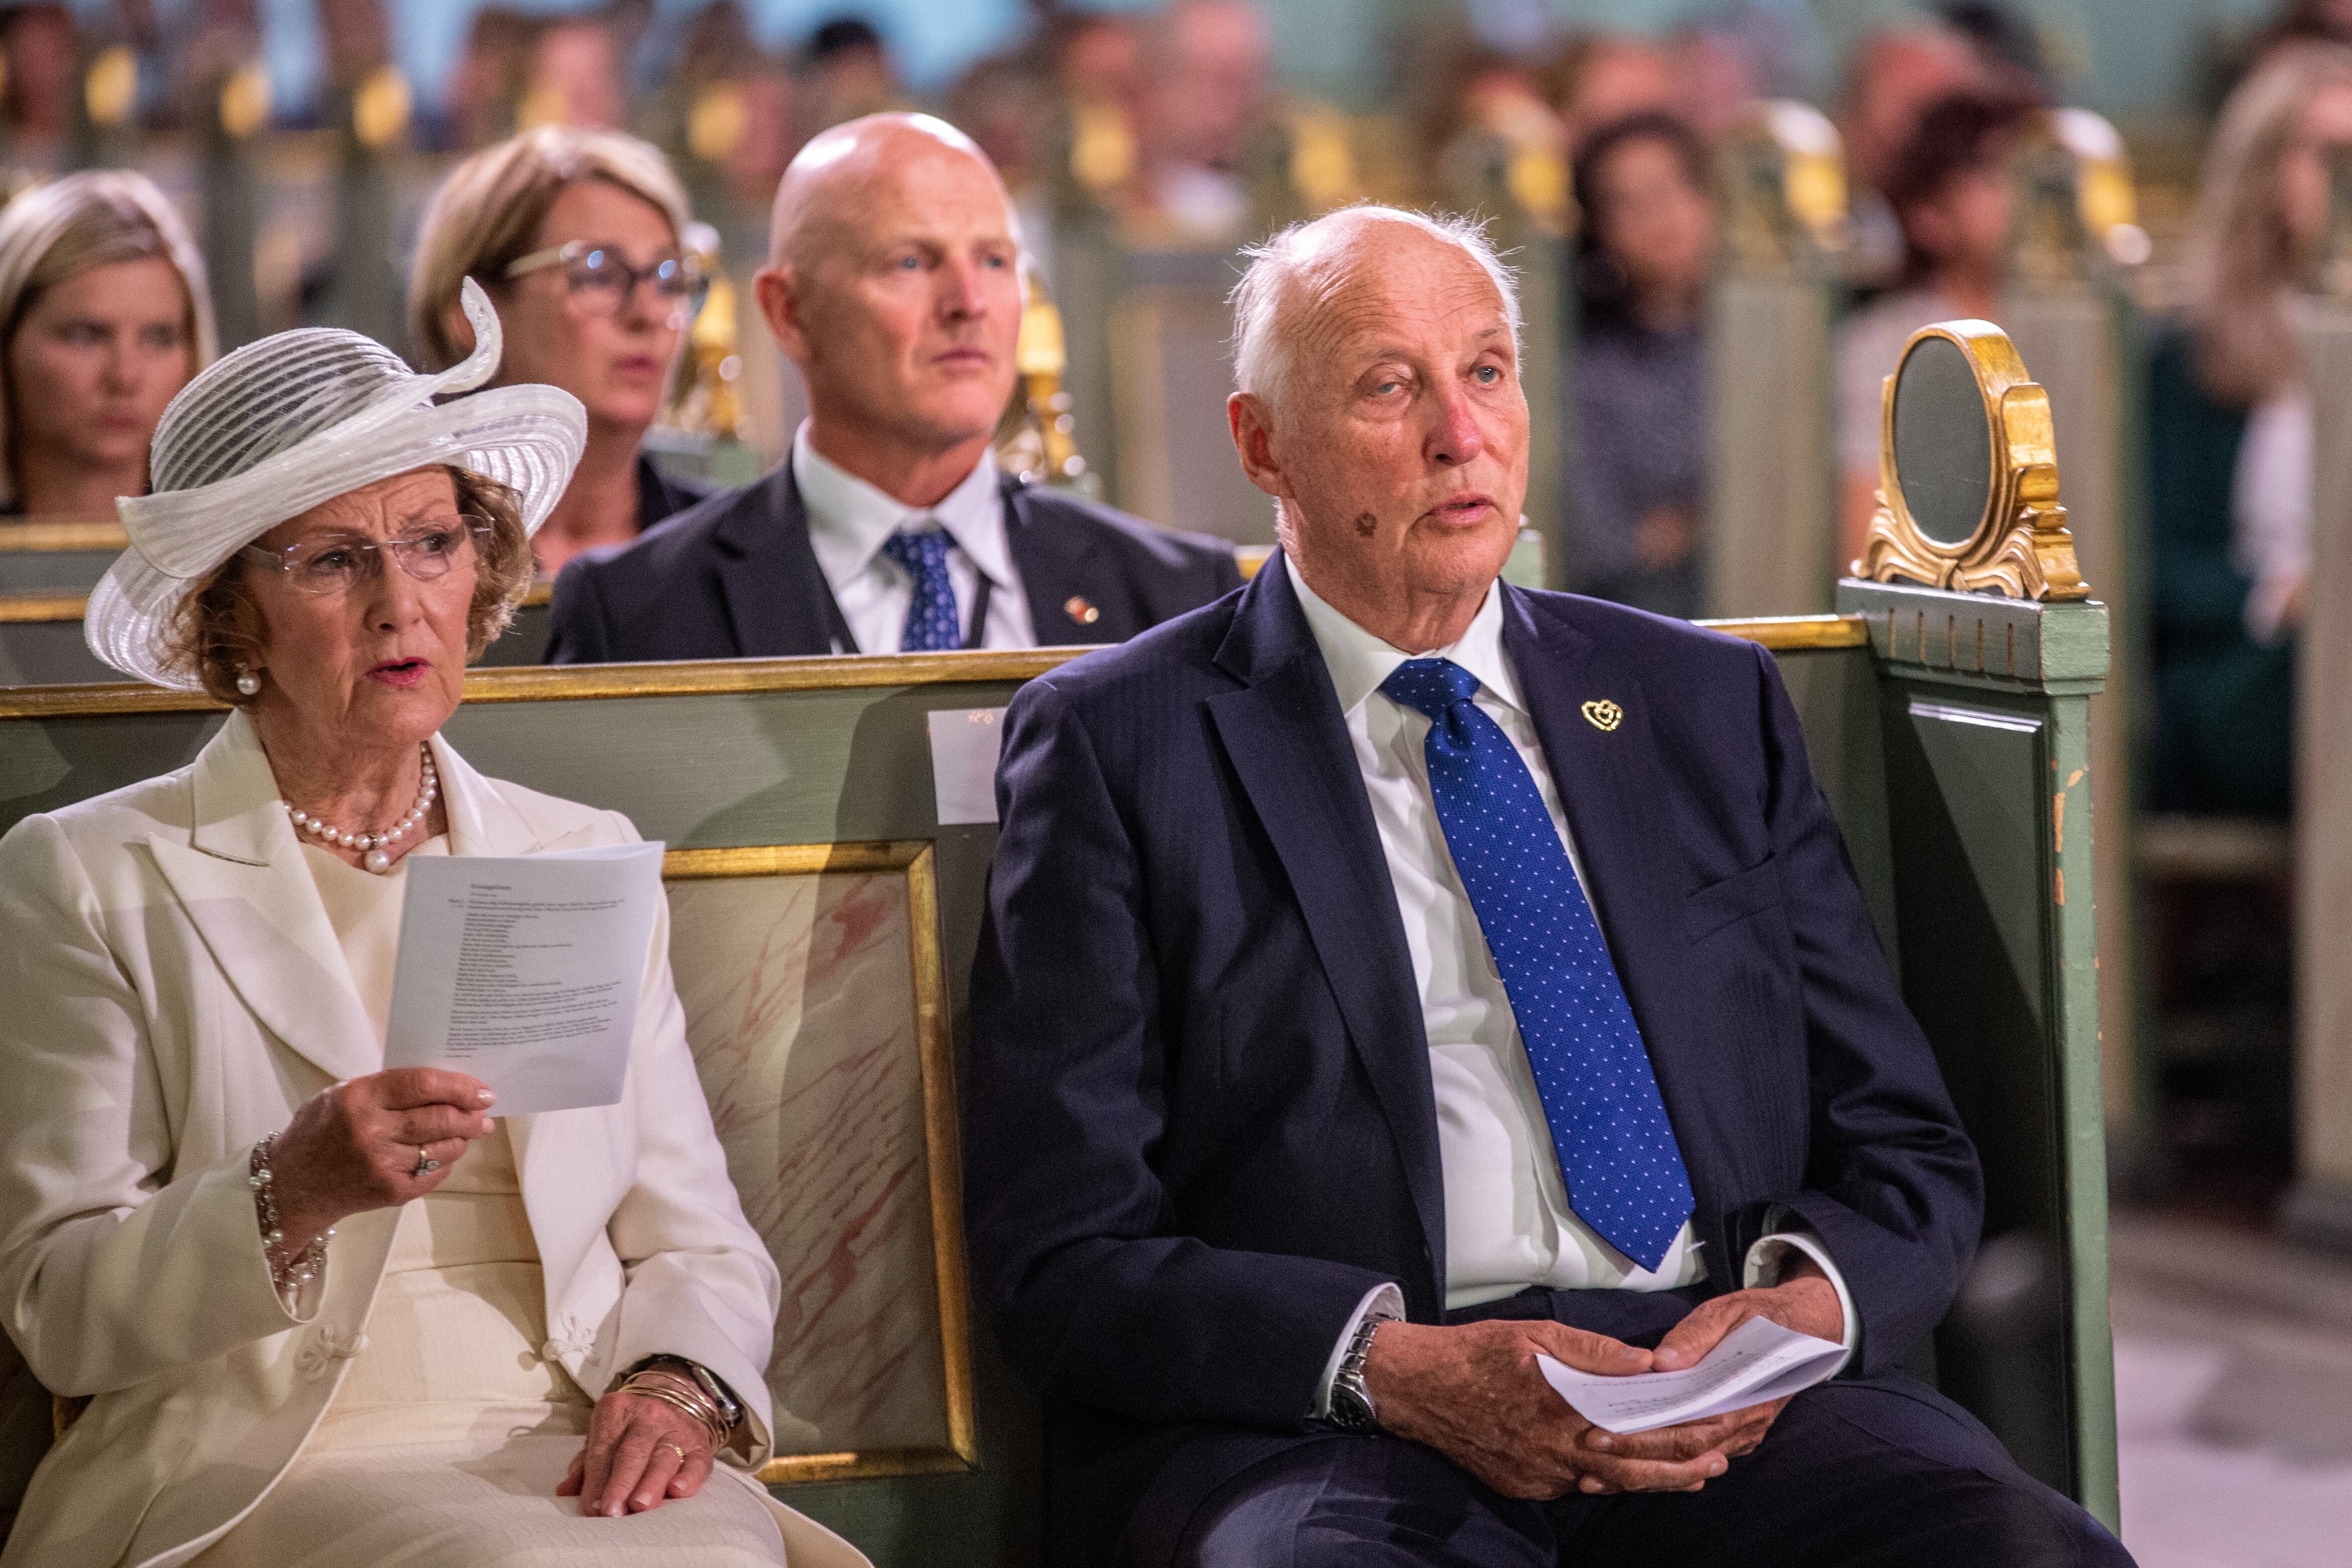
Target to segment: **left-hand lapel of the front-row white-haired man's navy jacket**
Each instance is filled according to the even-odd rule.
[[[1331,672],[1279,555],[1265,562],[1242,595],[1216,663],[1247,684],[1209,698],[1209,715],[1275,844],[1364,1074],[1397,1140],[1397,1159],[1435,1269],[1428,1281],[1435,1295],[1423,1305],[1442,1309],[1444,1168],[1414,954],[1404,943],[1388,853],[1371,820],[1371,799],[1331,691]]]

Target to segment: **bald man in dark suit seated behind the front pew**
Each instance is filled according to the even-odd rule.
[[[564,567],[550,663],[1120,642],[1242,583],[1221,541],[997,470],[1021,237],[953,125],[809,141],[757,292],[809,388],[793,458]]]

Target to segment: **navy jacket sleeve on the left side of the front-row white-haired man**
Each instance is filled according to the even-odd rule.
[[[1164,1234],[1157,943],[1143,865],[1051,677],[1007,715],[971,976],[967,1215],[1016,1373],[1145,1422],[1298,1429],[1381,1274]]]

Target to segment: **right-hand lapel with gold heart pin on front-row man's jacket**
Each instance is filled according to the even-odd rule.
[[[1708,1100],[1708,1060],[1696,1020],[1686,1018],[1682,931],[1682,856],[1665,811],[1665,764],[1649,726],[1639,682],[1609,649],[1583,635],[1552,604],[1503,585],[1503,649],[1519,677],[1519,693],[1536,722],[1543,759],[1559,788],[1559,806],[1576,835],[1585,896],[1609,938],[1625,1001],[1642,1025],[1658,1095],[1675,1124],[1682,1164],[1698,1199],[1708,1272],[1722,1276],[1733,1260],[1710,1234],[1715,1206],[1708,1150],[1715,1147],[1715,1107]],[[1616,729],[1585,717],[1585,703],[1613,703]],[[1604,715],[1606,717],[1606,715]],[[1736,1284],[1736,1281],[1733,1281]]]

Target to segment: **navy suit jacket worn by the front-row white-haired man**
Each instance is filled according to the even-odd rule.
[[[1557,1293],[1635,1338],[1738,1288],[1776,1206],[1837,1260],[1858,1373],[1945,1312],[1983,1190],[1769,654],[1503,585],[1503,646],[1696,1194],[1708,1284]],[[1581,705],[1613,701],[1602,731]],[[1049,1547],[1108,1563],[1310,1432],[1378,1281],[1444,1319],[1444,1175],[1404,924],[1279,562],[1033,679],[971,976],[976,1288],[1044,1394]],[[1663,1312],[1663,1316],[1656,1316]],[[1138,1507],[1143,1505],[1143,1507]]]

